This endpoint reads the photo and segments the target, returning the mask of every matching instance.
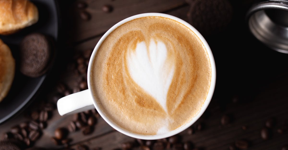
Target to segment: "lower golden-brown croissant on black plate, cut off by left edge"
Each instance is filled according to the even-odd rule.
[[[0,102],[8,94],[15,74],[15,60],[10,48],[0,39]]]

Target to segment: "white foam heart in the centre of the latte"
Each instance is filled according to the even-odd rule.
[[[150,40],[149,51],[145,42],[128,50],[127,64],[130,76],[167,112],[166,100],[173,79],[175,65],[167,63],[167,47],[162,41]]]

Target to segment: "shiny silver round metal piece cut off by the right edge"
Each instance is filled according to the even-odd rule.
[[[246,17],[252,34],[268,47],[288,53],[288,0],[270,0],[249,9]]]

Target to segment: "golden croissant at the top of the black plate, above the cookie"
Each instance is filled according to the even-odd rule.
[[[28,0],[0,0],[0,34],[8,35],[38,21],[38,9]]]

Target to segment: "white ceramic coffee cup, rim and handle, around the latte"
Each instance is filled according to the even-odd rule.
[[[96,52],[97,52],[98,48],[100,47],[102,42],[106,39],[106,37],[113,30],[115,30],[116,28],[118,28],[119,26],[121,26],[122,24],[124,24],[126,22],[129,22],[129,21],[137,19],[137,18],[149,17],[149,16],[158,16],[158,17],[170,18],[170,19],[175,20],[177,22],[180,22],[181,24],[183,24],[183,25],[187,26],[188,28],[190,28],[199,37],[199,39],[204,44],[204,46],[206,48],[206,51],[207,51],[207,53],[209,55],[210,64],[211,64],[211,84],[210,84],[209,92],[208,92],[206,100],[204,101],[204,104],[202,105],[202,107],[201,107],[200,111],[198,112],[198,114],[196,116],[194,116],[194,118],[192,118],[189,122],[183,124],[179,128],[176,128],[175,130],[172,130],[172,131],[169,131],[169,132],[166,132],[166,133],[163,133],[163,134],[156,134],[156,135],[143,135],[143,134],[137,134],[137,133],[130,132],[128,130],[125,130],[124,128],[121,128],[120,126],[115,124],[112,120],[110,120],[107,116],[105,116],[105,114],[103,114],[103,111],[101,110],[101,108],[98,106],[96,100],[92,96],[93,91],[91,90],[91,78],[90,78],[94,57],[96,55]],[[58,107],[59,114],[61,116],[65,115],[65,114],[74,114],[74,113],[78,113],[78,112],[82,112],[82,111],[85,111],[85,110],[96,108],[98,113],[101,115],[101,117],[110,126],[112,126],[114,129],[118,130],[119,132],[121,132],[123,134],[126,134],[128,136],[137,138],[137,139],[155,140],[155,139],[162,139],[162,138],[166,138],[166,137],[169,137],[169,136],[173,136],[173,135],[185,130],[186,128],[191,126],[194,122],[196,122],[196,120],[198,120],[198,118],[200,118],[200,116],[204,113],[204,111],[208,107],[208,105],[209,105],[209,103],[211,101],[213,92],[214,92],[215,82],[216,82],[216,68],[215,68],[214,57],[212,55],[212,52],[211,52],[211,49],[210,49],[209,45],[207,44],[207,42],[203,38],[203,36],[193,26],[191,26],[190,24],[188,24],[184,20],[181,20],[181,19],[179,19],[177,17],[174,17],[174,16],[171,16],[171,15],[160,14],[160,13],[145,13],[145,14],[135,15],[135,16],[126,18],[126,19],[118,22],[117,24],[115,24],[112,28],[110,28],[102,36],[102,38],[99,40],[99,42],[95,46],[95,48],[93,50],[93,53],[92,53],[92,55],[90,57],[90,61],[89,61],[89,65],[88,65],[87,80],[88,80],[88,89],[87,90],[84,90],[84,91],[81,91],[81,92],[77,92],[77,93],[62,97],[61,99],[58,100],[57,107]]]

